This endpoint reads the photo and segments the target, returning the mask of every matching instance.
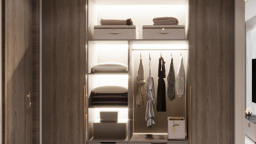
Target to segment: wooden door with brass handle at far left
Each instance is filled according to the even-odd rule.
[[[3,143],[32,144],[32,1],[4,0],[3,8]]]

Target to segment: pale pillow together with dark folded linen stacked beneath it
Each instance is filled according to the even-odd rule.
[[[100,86],[92,89],[92,105],[127,105],[128,88],[124,86]]]

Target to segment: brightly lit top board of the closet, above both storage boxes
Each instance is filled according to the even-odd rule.
[[[98,5],[159,5],[159,4],[186,4],[188,0],[94,0]]]

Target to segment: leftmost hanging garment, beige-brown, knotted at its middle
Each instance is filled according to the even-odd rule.
[[[143,107],[144,106],[144,94],[142,93],[142,88],[145,84],[144,81],[144,70],[142,65],[142,58],[140,58],[140,66],[137,75],[137,85],[138,85],[138,93],[136,96],[135,106]]]

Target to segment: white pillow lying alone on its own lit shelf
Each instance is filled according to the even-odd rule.
[[[92,67],[94,71],[126,71],[128,66],[118,62],[104,62]]]

